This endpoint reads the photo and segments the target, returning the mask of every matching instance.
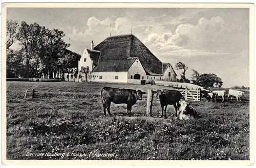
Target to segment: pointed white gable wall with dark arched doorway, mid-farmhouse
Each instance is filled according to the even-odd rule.
[[[140,79],[140,80],[146,79],[146,72],[145,72],[144,68],[142,67],[139,59],[136,59],[134,61],[133,65],[128,70],[128,78],[129,79]]]

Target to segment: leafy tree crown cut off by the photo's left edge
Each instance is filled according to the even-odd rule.
[[[7,20],[6,24],[6,49],[14,43],[16,40],[16,33],[18,29],[18,22],[13,20]]]

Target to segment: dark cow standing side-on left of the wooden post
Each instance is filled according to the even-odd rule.
[[[143,94],[145,94],[145,92],[140,90],[136,91],[132,89],[118,89],[110,87],[102,88],[101,100],[104,115],[106,116],[106,109],[108,109],[108,113],[111,116],[110,104],[113,102],[115,104],[127,104],[127,115],[131,116],[132,106],[137,102],[137,100],[142,100]]]

